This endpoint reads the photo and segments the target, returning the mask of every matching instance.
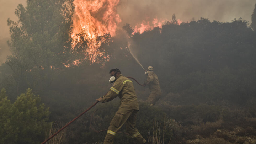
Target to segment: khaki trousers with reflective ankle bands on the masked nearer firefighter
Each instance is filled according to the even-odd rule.
[[[137,112],[138,110],[119,108],[108,127],[104,144],[114,143],[116,132],[123,126],[123,124],[126,124],[127,132],[132,138],[135,138],[140,144],[146,143],[146,140],[140,135],[138,129],[135,128]]]

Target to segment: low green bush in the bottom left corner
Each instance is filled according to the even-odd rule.
[[[39,96],[31,89],[17,97],[14,103],[8,100],[5,89],[0,93],[0,143],[36,144],[44,139],[44,130],[50,127],[49,108],[41,104]]]

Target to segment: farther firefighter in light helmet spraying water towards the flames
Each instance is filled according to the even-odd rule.
[[[146,102],[150,103],[150,105],[153,106],[159,100],[162,92],[159,85],[158,76],[154,73],[154,69],[152,66],[148,67],[146,74],[148,76],[147,80],[144,82],[144,85],[149,85],[149,90],[151,92]]]

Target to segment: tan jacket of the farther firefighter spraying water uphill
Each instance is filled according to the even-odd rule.
[[[149,90],[151,93],[162,93],[158,77],[154,72],[150,72],[148,74],[147,80],[144,82],[144,84],[149,85]]]

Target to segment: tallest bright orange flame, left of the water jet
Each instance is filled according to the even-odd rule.
[[[118,3],[119,0],[74,0],[74,28],[71,35],[73,47],[84,41],[86,37],[89,37],[89,48],[85,53],[91,63],[94,63],[96,56],[101,54],[97,52],[97,49],[102,42],[96,42],[97,37],[106,33],[114,36],[118,23],[122,21],[117,14]],[[86,37],[80,37],[79,34],[81,32]]]

